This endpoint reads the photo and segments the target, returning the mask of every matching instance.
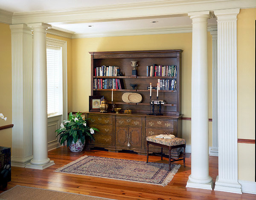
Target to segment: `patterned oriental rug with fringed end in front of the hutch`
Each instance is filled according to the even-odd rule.
[[[56,171],[166,186],[179,168],[180,165],[172,164],[168,171],[166,163],[83,156]]]

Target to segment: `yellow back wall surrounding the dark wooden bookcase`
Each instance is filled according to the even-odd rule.
[[[136,51],[182,49],[182,114],[191,117],[192,33],[123,37],[97,37],[72,40],[72,111],[88,111],[90,95],[89,51]],[[212,118],[212,37],[208,34],[209,118]],[[183,138],[191,142],[191,121],[183,121]],[[209,146],[212,129],[209,123]]]

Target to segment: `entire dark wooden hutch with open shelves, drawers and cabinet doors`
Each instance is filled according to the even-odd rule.
[[[111,89],[93,89],[93,79],[116,78],[122,79],[124,89],[113,91],[113,102],[116,107],[122,108],[120,114],[87,112],[88,123],[96,127],[99,132],[95,134],[95,142],[90,147],[103,147],[109,151],[133,150],[145,154],[145,138],[150,135],[170,132],[181,137],[181,52],[182,50],[157,51],[112,51],[89,52],[91,54],[91,95],[104,96],[111,108]],[[132,76],[131,60],[138,61],[137,76]],[[147,66],[157,64],[160,66],[177,66],[176,77],[148,77]],[[95,68],[101,66],[118,66],[123,76],[107,77],[96,76]],[[158,79],[175,79],[176,90],[160,90],[159,100],[166,104],[162,106],[162,116],[147,115],[150,112],[150,83],[157,86]],[[132,89],[130,83],[136,83],[137,88]],[[136,92],[142,95],[141,103],[125,103],[122,94]],[[151,100],[156,100],[157,91],[152,90]],[[124,109],[131,109],[132,114],[124,114]],[[109,109],[110,110],[110,109]],[[150,147],[150,152],[159,151],[157,147]],[[173,149],[172,156],[178,157],[180,149]]]

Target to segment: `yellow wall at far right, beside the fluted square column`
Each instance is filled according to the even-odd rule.
[[[256,9],[241,9],[237,20],[238,138],[255,140]],[[238,178],[254,181],[255,145],[238,145]]]

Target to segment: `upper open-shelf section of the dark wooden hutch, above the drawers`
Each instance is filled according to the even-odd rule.
[[[182,50],[164,50],[164,51],[112,51],[112,52],[89,52],[91,54],[91,95],[104,96],[105,100],[111,103],[111,89],[93,89],[93,79],[95,78],[118,78],[124,82],[125,89],[113,91],[113,101],[117,107],[122,109],[131,109],[133,112],[149,112],[149,90],[150,83],[153,87],[157,86],[158,79],[175,79],[177,81],[177,90],[160,90],[159,100],[165,100],[166,104],[162,106],[164,114],[180,114],[181,98],[181,52]],[[131,60],[138,61],[137,74],[131,76]],[[177,66],[176,77],[147,77],[147,66],[153,64],[161,66]],[[100,66],[118,66],[124,76],[96,77],[94,69]],[[137,88],[132,89],[130,83],[136,83]],[[141,103],[125,103],[122,101],[122,94],[125,92],[137,92],[143,97]],[[157,91],[152,91],[151,100],[156,100]]]

